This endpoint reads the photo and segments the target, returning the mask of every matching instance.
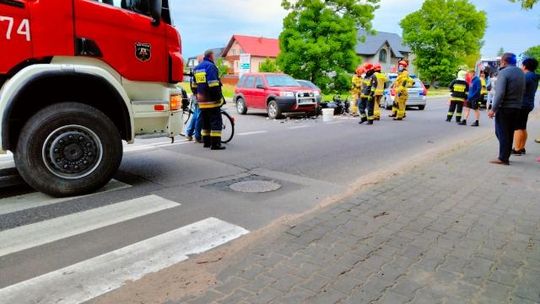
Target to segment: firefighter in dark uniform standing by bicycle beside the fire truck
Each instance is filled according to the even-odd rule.
[[[202,114],[202,130],[204,147],[212,150],[223,150],[221,146],[221,131],[223,121],[221,118],[221,106],[223,105],[223,93],[219,70],[208,57],[193,70],[193,83],[196,84],[197,101]]]

